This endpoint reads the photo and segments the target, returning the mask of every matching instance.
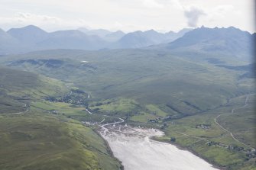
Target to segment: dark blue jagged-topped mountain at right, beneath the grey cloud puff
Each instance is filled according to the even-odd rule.
[[[181,53],[215,53],[251,59],[254,55],[254,36],[235,27],[199,27],[168,43],[167,50]]]

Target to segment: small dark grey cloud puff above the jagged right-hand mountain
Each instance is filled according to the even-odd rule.
[[[197,27],[199,18],[203,15],[206,15],[206,13],[202,8],[197,6],[190,6],[189,8],[185,8],[184,15],[187,19],[187,25],[189,27]]]

